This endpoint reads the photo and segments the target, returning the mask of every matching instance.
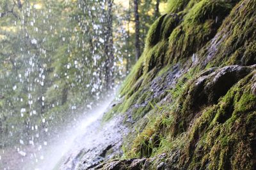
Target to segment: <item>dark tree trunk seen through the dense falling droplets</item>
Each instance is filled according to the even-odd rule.
[[[105,49],[104,53],[106,56],[105,63],[105,76],[106,76],[106,90],[110,90],[113,87],[114,75],[113,75],[113,64],[114,64],[114,53],[113,53],[113,0],[107,0],[107,11],[106,11],[106,31],[105,31]]]

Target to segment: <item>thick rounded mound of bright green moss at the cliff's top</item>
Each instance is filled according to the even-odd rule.
[[[223,1],[203,0],[196,3],[170,35],[168,55],[171,62],[190,57],[202,48],[214,37],[230,10],[230,4]]]

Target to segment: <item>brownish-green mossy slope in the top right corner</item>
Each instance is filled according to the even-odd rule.
[[[256,1],[241,1],[231,11],[220,27],[220,33],[216,39],[207,46],[207,52],[212,59],[209,64],[214,66],[227,66],[241,64],[250,66],[255,64],[255,21]],[[237,13],[239,11],[239,13]],[[216,45],[218,44],[218,48]],[[212,50],[215,48],[215,52]]]

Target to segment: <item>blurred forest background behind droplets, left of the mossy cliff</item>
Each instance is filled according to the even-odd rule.
[[[162,0],[0,0],[0,147],[33,145],[115,89]]]

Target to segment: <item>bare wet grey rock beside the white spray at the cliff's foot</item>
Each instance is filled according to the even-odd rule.
[[[123,137],[129,132],[127,127],[122,125],[123,120],[124,117],[120,116],[105,125],[99,121],[91,125],[88,128],[90,131],[77,140],[84,143],[77,143],[73,152],[68,154],[61,170],[95,169],[100,163],[122,155],[120,148]]]

